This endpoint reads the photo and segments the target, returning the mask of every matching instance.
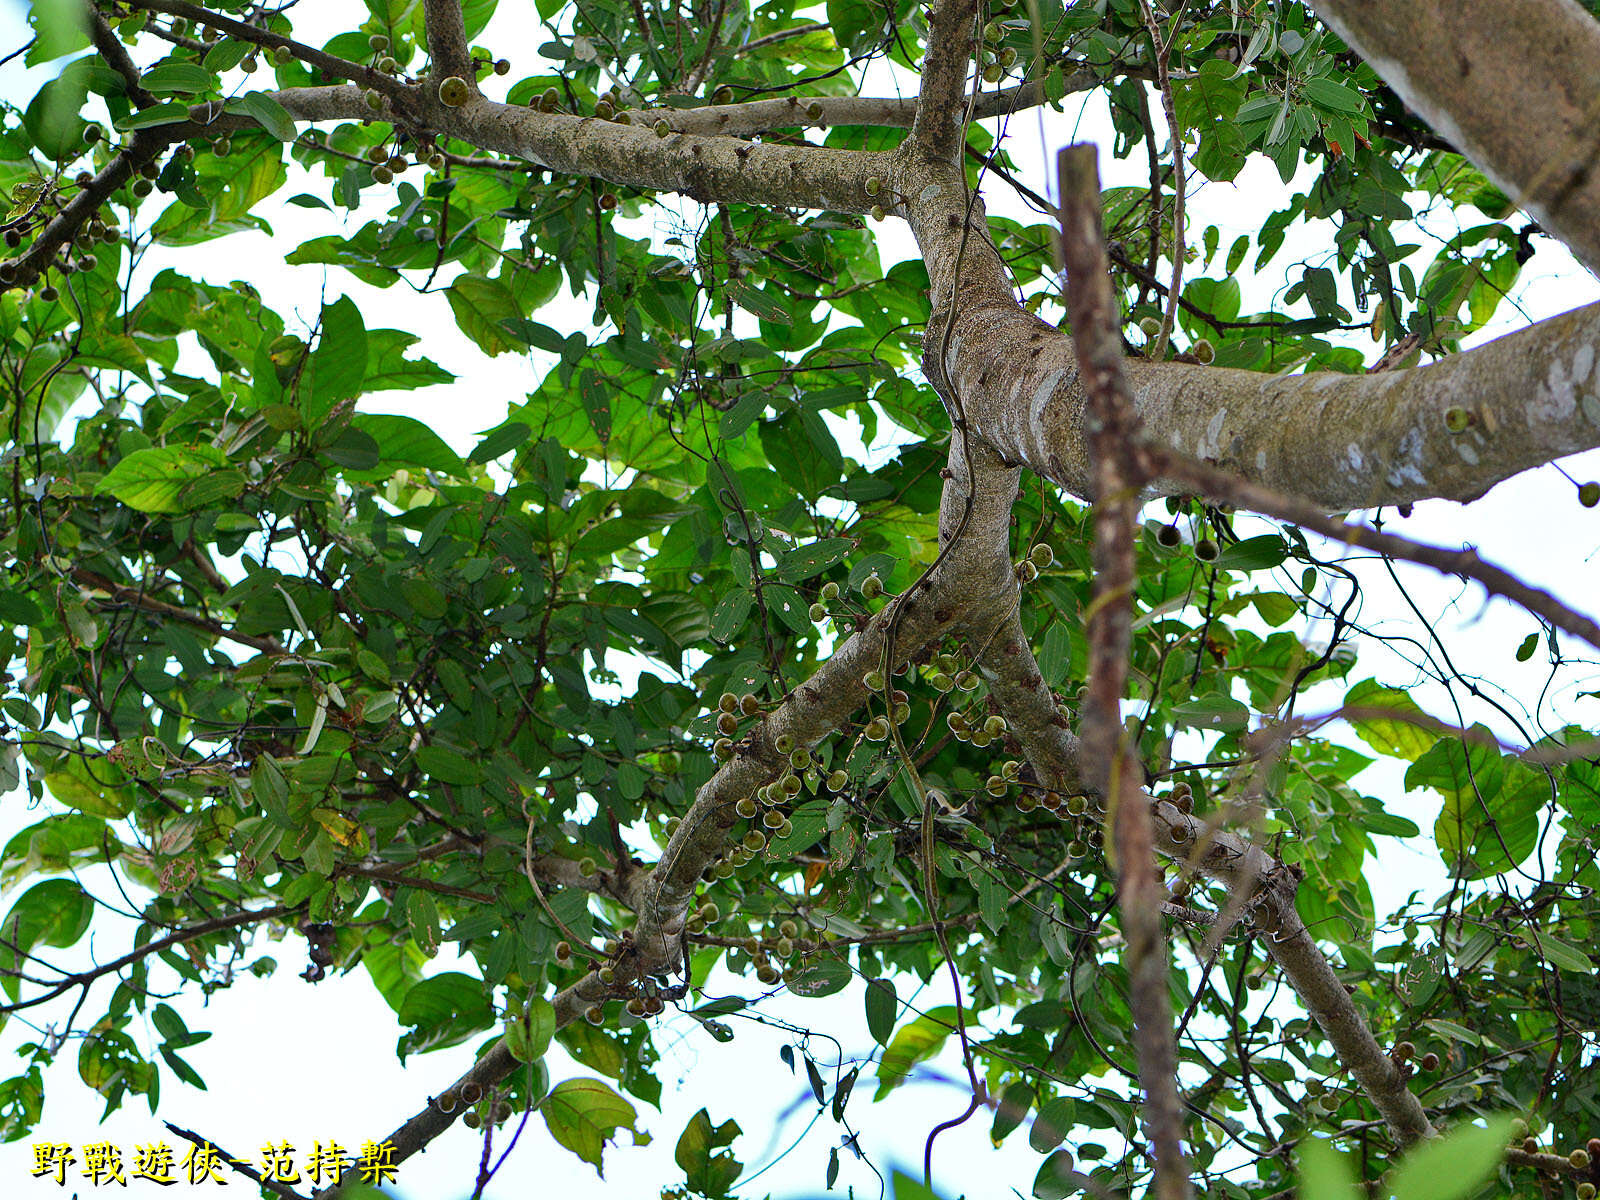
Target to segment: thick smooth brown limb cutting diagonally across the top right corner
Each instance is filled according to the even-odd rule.
[[[1312,0],[1429,125],[1600,274],[1600,22],[1574,0]]]

